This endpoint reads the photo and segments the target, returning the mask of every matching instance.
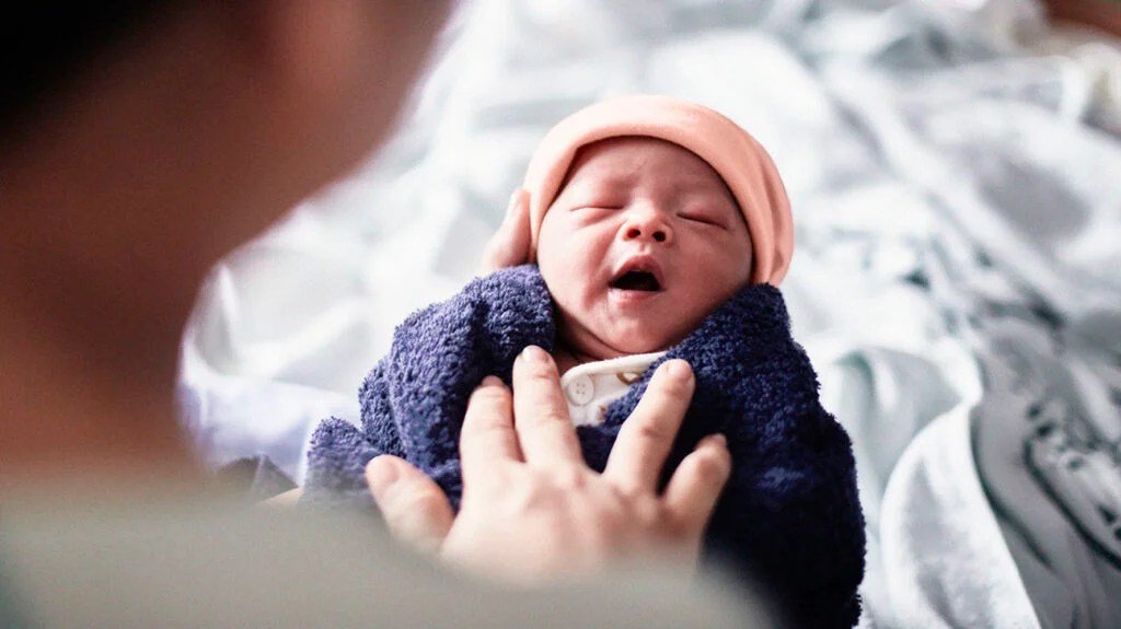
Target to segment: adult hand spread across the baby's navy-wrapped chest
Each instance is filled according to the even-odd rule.
[[[641,557],[692,570],[731,471],[723,435],[710,435],[658,494],[693,387],[687,363],[663,364],[601,475],[581,456],[556,365],[528,347],[513,365],[512,396],[493,376],[471,396],[457,516],[435,482],[401,459],[373,459],[367,478],[395,535],[472,572],[527,583]]]

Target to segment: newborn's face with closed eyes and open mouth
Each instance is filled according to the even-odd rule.
[[[652,138],[581,149],[541,223],[562,339],[590,358],[667,349],[748,283],[751,240],[723,179]]]

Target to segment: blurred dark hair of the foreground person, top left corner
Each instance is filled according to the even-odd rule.
[[[0,19],[0,135],[176,0],[38,0]],[[19,15],[16,17],[15,13]]]

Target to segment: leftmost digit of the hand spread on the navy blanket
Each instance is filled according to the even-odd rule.
[[[365,467],[370,492],[389,532],[424,553],[435,553],[452,528],[452,506],[430,478],[397,457],[374,457]]]

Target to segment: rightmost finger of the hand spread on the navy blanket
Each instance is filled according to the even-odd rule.
[[[732,456],[722,434],[710,434],[674,471],[666,487],[666,508],[686,536],[700,541],[732,473]]]

